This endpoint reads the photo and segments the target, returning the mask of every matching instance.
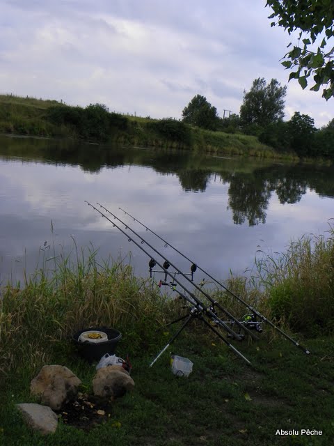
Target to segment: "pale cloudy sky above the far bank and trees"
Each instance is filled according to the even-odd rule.
[[[180,118],[196,94],[239,113],[253,80],[287,84],[291,40],[265,0],[0,0],[0,93]],[[334,102],[288,84],[285,118],[334,117]]]

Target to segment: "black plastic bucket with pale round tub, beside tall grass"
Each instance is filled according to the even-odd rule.
[[[108,337],[108,341],[93,343],[89,341],[81,342],[79,341],[79,337],[81,333],[87,332],[88,330],[99,331],[106,333]],[[77,346],[77,351],[81,357],[84,357],[85,360],[89,362],[100,361],[103,355],[109,353],[109,355],[113,355],[115,352],[115,348],[118,344],[118,341],[122,337],[122,334],[118,330],[114,328],[107,327],[90,327],[85,328],[84,330],[80,330],[77,333],[74,333],[72,336],[72,341]]]

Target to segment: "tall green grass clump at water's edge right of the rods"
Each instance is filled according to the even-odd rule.
[[[278,256],[256,261],[253,276],[271,316],[306,335],[334,330],[334,229],[303,236]],[[255,281],[254,281],[255,279]]]

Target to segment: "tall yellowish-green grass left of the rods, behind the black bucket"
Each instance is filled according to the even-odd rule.
[[[102,265],[97,252],[74,247],[72,254],[53,255],[46,247],[42,266],[24,287],[8,284],[0,299],[0,372],[19,367],[37,370],[70,348],[74,332],[107,325],[126,332],[127,351],[157,342],[168,302],[148,280],[134,277],[121,261]],[[73,260],[75,259],[75,260]]]

